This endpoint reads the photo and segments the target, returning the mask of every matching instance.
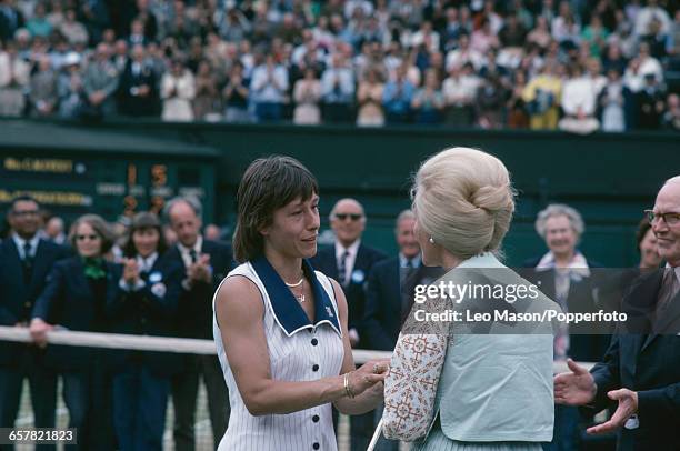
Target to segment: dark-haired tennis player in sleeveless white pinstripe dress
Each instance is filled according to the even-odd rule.
[[[231,417],[220,451],[336,450],[342,413],[382,400],[387,361],[354,370],[342,289],[317,252],[319,189],[297,160],[256,160],[239,186],[234,257],[214,294],[213,333]]]

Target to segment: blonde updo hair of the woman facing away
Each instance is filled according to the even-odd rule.
[[[497,251],[514,212],[506,166],[470,148],[447,149],[429,158],[416,174],[411,196],[419,227],[463,260]]]

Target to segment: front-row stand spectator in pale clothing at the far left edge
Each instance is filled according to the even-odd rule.
[[[8,41],[3,50],[0,48],[0,117],[23,113],[30,71],[30,66],[19,57],[12,41]]]

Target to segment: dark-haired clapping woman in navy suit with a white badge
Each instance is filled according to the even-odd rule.
[[[107,313],[116,333],[172,335],[181,293],[179,262],[162,258],[166,241],[156,214],[132,218],[124,267]],[[113,425],[121,451],[163,449],[170,375],[180,362],[169,352],[119,352],[113,362]]]

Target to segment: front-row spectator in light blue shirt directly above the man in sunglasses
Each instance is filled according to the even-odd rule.
[[[344,57],[333,53],[331,66],[321,76],[324,122],[349,122],[354,97],[354,76]]]

